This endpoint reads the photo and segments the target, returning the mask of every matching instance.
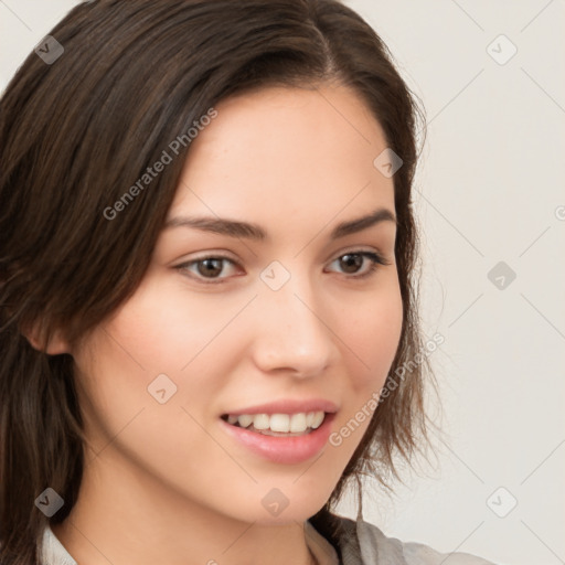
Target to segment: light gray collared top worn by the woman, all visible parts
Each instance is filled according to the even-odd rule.
[[[313,525],[305,524],[306,542],[320,565],[494,565],[468,553],[439,553],[414,542],[386,537],[379,527],[362,519],[341,518],[345,534],[340,540],[340,561],[335,547]],[[41,565],[78,565],[49,525],[43,532]]]

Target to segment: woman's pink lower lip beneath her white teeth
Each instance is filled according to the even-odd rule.
[[[250,451],[276,463],[301,463],[317,455],[328,443],[335,414],[327,414],[322,425],[303,436],[265,436],[220,419],[227,434]]]

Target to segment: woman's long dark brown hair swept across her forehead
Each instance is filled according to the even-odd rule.
[[[395,454],[409,460],[426,437],[411,195],[422,114],[386,46],[337,0],[97,0],[50,35],[61,56],[31,53],[0,100],[0,563],[35,562],[47,519],[34,501],[53,488],[65,502],[50,520],[63,521],[84,465],[73,359],[32,348],[22,332],[39,327],[47,343],[63,329],[73,342],[131,296],[190,143],[126,211],[104,211],[220,100],[327,81],[362,96],[404,161],[394,175],[404,320],[388,377],[413,363],[312,519],[331,532],[345,484],[367,475],[386,486]]]

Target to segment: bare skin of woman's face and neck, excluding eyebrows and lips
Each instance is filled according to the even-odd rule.
[[[345,220],[395,213],[393,180],[373,166],[386,142],[363,102],[324,84],[263,89],[216,109],[192,142],[169,217],[254,222],[269,239],[166,228],[134,296],[77,345],[50,345],[74,358],[89,438],[78,501],[53,526],[81,564],[312,563],[303,523],[369,418],[341,446],[281,465],[228,437],[220,415],[322,397],[338,405],[339,430],[381,390],[398,345],[395,223],[329,239]],[[339,258],[360,249],[390,264],[355,280],[371,260],[348,269]],[[207,279],[206,265],[179,268],[217,254],[235,264],[209,266],[218,274]],[[276,291],[259,278],[274,260],[290,274]],[[214,276],[224,282],[206,285]],[[147,390],[161,373],[178,387],[164,404]],[[273,488],[289,501],[278,516],[262,504]]]

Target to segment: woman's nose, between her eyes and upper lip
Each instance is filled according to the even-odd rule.
[[[262,371],[292,371],[308,377],[332,362],[338,352],[335,329],[324,319],[329,309],[320,302],[306,276],[291,276],[278,290],[262,289],[255,305],[258,320],[253,345]]]

